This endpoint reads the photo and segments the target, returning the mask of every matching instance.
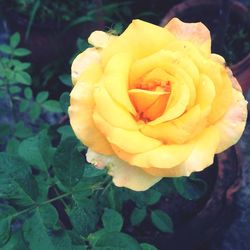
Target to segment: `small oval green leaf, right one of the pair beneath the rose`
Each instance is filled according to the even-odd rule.
[[[173,222],[172,219],[161,210],[153,210],[151,212],[152,223],[160,231],[164,233],[173,233]]]

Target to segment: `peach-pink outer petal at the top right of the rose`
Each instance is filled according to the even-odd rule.
[[[173,18],[165,27],[176,38],[191,41],[204,53],[211,53],[210,32],[203,23],[184,23],[178,18]]]

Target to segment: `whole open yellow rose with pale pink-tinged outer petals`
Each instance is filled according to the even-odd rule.
[[[115,185],[141,191],[189,176],[239,140],[247,102],[202,23],[134,20],[89,43],[72,65],[70,122]]]

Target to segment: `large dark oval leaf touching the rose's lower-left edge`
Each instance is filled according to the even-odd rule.
[[[57,178],[67,187],[75,186],[83,175],[84,157],[77,150],[78,140],[68,137],[58,146],[54,159],[53,168]]]

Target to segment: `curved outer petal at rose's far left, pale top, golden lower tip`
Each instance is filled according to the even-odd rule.
[[[70,124],[80,141],[102,154],[112,154],[112,149],[105,137],[97,130],[93,114],[92,83],[79,82],[71,92],[69,117]]]

